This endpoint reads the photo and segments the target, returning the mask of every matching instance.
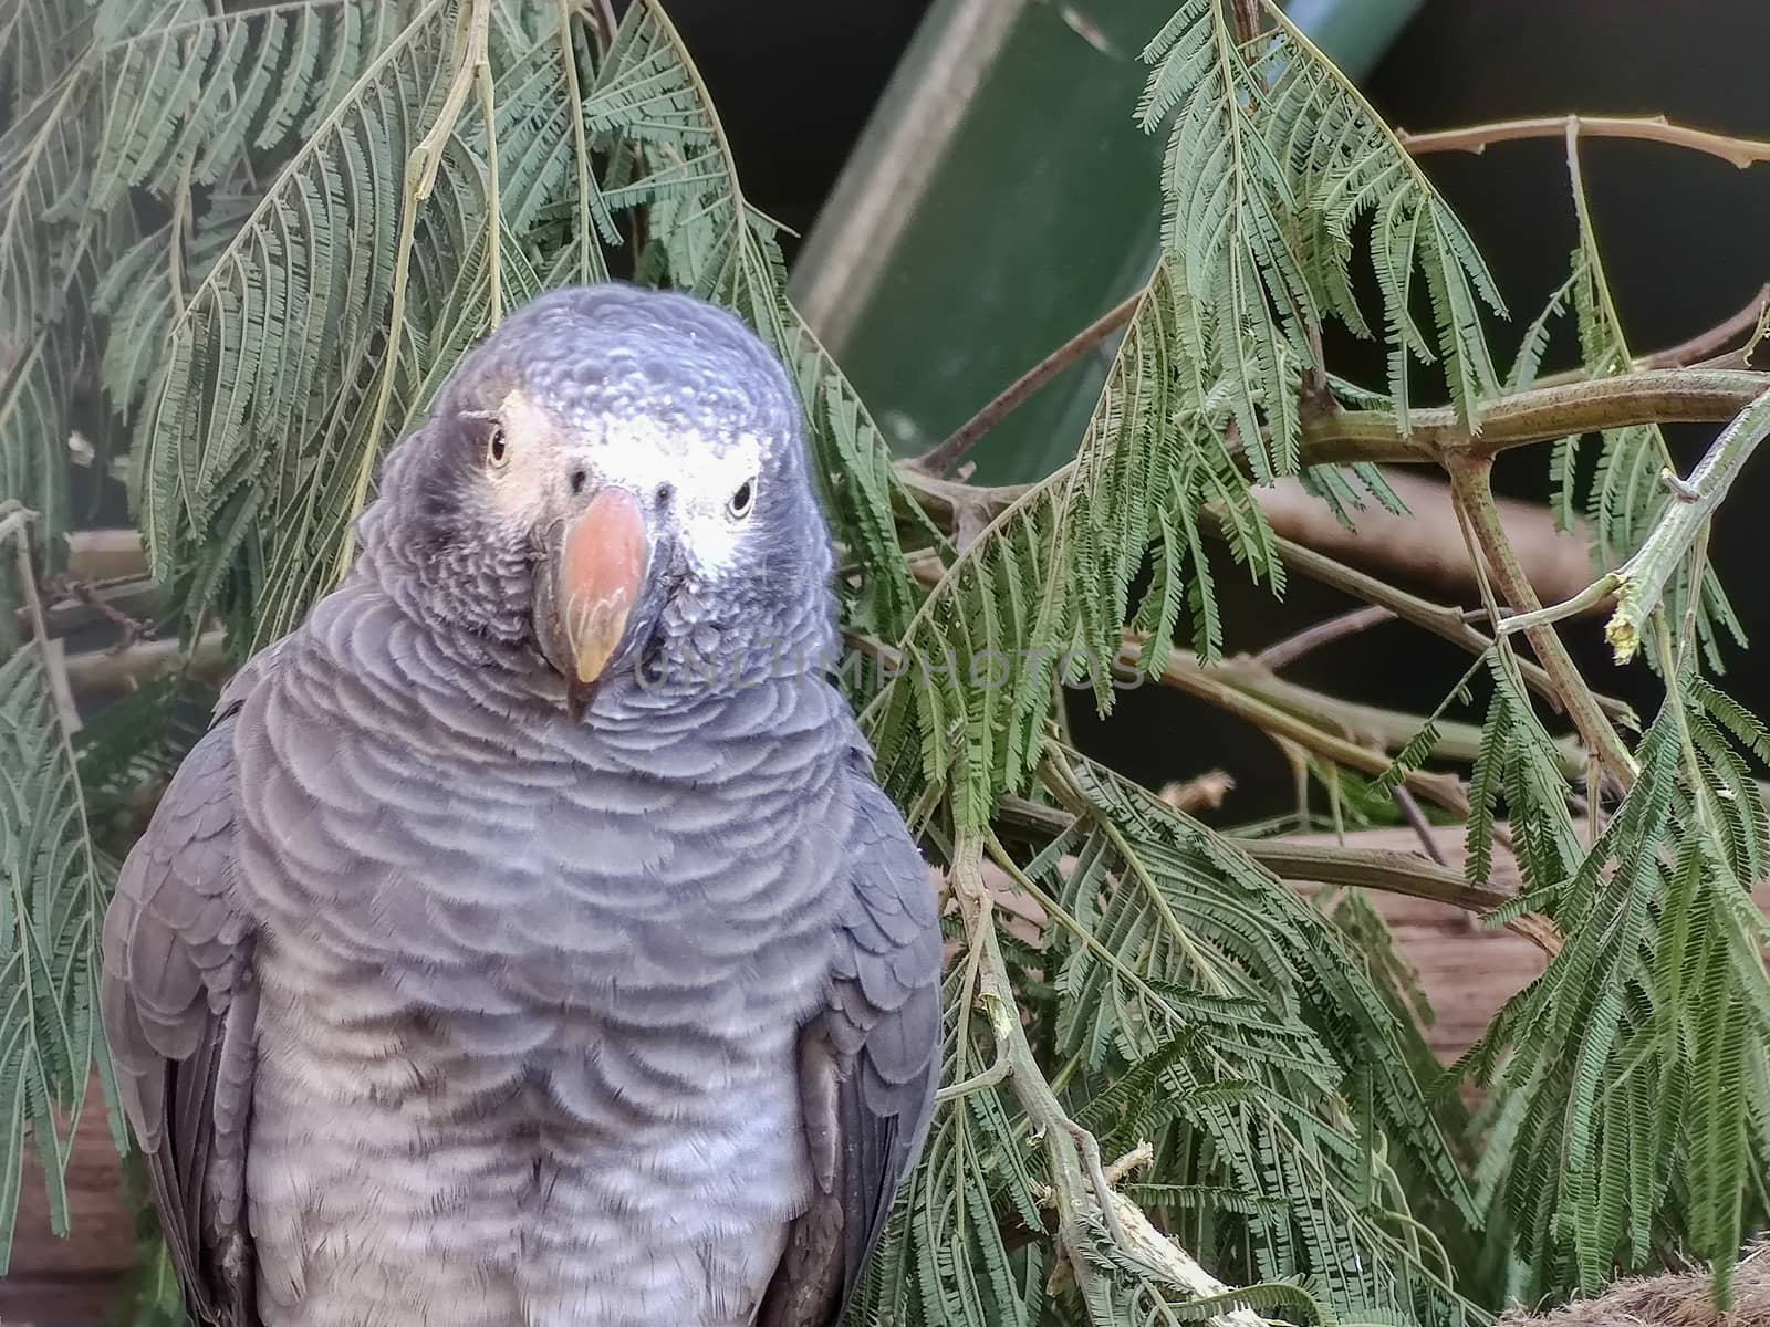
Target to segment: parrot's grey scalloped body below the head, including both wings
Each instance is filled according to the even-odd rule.
[[[828,1327],[940,1072],[935,895],[844,702],[804,676],[699,697],[627,679],[577,725],[520,640],[439,637],[377,547],[225,695],[106,917],[104,1028],[193,1315],[333,1322],[349,1290],[377,1323],[425,1295],[439,1327],[643,1322],[621,1277],[650,1254],[620,1214],[651,1175],[676,1191],[625,1224],[758,1231],[683,1254],[710,1285],[678,1288],[703,1316],[673,1322]],[[820,587],[795,630],[821,639],[828,610]],[[391,1047],[365,1060],[382,1078],[361,1099],[349,1074],[322,1085],[365,1035]],[[775,1143],[745,1152],[770,1113],[795,1131],[772,1178]],[[400,1118],[423,1125],[377,1132]],[[646,1152],[669,1129],[701,1129],[729,1173]],[[423,1184],[423,1139],[490,1161],[391,1205]],[[533,1173],[504,1164],[529,1154]],[[377,1258],[419,1272],[382,1286]],[[632,1285],[667,1299],[673,1269]]]

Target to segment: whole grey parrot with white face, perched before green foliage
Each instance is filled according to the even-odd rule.
[[[823,1327],[940,1074],[920,853],[736,318],[547,294],[393,448],[117,881],[103,1016],[205,1323]]]

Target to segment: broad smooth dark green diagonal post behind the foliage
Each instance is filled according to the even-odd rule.
[[[1012,0],[998,0],[1011,4]],[[887,120],[942,96],[935,35],[965,0],[929,11],[894,92],[857,149],[880,150]],[[1354,78],[1418,0],[1296,0],[1297,21]],[[830,349],[903,453],[926,449],[997,391],[1147,280],[1161,228],[1165,134],[1133,113],[1143,44],[1174,0],[1027,2],[981,71],[881,272],[853,299]],[[837,195],[818,230],[839,228]],[[818,239],[816,230],[812,241]],[[812,258],[816,262],[816,258]],[[1074,453],[1113,343],[1067,370],[972,453],[977,479],[1048,474]]]

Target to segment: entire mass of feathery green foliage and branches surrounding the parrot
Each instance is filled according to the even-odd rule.
[[[795,370],[848,639],[908,662],[843,676],[949,867],[949,1086],[853,1322],[1462,1325],[1676,1256],[1726,1293],[1770,1212],[1770,931],[1749,892],[1770,832],[1747,763],[1770,734],[1708,676],[1736,625],[1703,531],[1770,419],[1743,410],[1690,492],[1662,483],[1655,426],[1602,426],[1632,359],[1582,200],[1568,283],[1501,377],[1487,267],[1358,90],[1276,5],[1184,0],[1135,108],[1168,134],[1163,251],[1074,460],[995,494],[894,462],[788,303],[775,226],[651,0],[618,23],[579,0],[18,0],[0,53],[0,1249],[30,1148],[65,1223],[71,1131],[94,1070],[108,1083],[97,918],[216,637],[237,662],[294,626],[464,349],[612,272],[727,304]],[[1616,639],[1664,679],[1632,745],[1543,617],[1503,621],[1538,605],[1506,571],[1492,451],[1554,442],[1572,515],[1579,437],[1483,421],[1533,391],[1568,311],[1566,377],[1602,433],[1595,570],[1623,591]],[[1328,370],[1329,322],[1381,336],[1388,382]],[[1418,409],[1434,366],[1451,403]],[[1494,568],[1490,632],[1280,540],[1257,501],[1299,474],[1345,520],[1398,510],[1382,458],[1451,474]],[[83,722],[44,602],[71,494],[119,488],[179,651]],[[1455,883],[1554,950],[1448,1076],[1359,892],[1306,901],[1266,840],[1085,759],[1058,667],[974,667],[1080,651],[1216,678],[1225,552],[1474,653],[1446,679],[1444,710],[1485,695],[1466,777],[1425,768],[1455,764],[1443,711],[1393,748],[1280,715],[1347,814],[1418,789],[1464,819]],[[1547,702],[1577,720],[1572,759]],[[1356,853],[1333,878],[1384,886]]]

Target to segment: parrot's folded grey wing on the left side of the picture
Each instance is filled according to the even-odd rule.
[[[104,917],[104,1035],[186,1306],[250,1327],[246,1124],[257,991],[232,897],[234,711],[172,777]]]

